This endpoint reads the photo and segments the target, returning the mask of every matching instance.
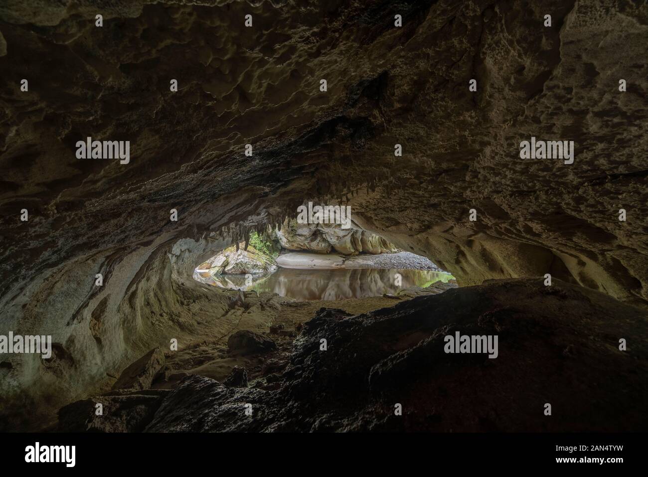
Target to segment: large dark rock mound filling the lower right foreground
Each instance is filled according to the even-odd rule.
[[[643,430],[645,312],[541,279],[490,281],[355,317],[322,310],[275,391],[191,376],[148,431]],[[446,354],[497,335],[498,356]],[[627,351],[619,340],[627,340]],[[327,340],[327,351],[321,351]],[[278,379],[277,379],[278,378]],[[316,397],[316,399],[314,399]],[[246,414],[246,405],[252,414]],[[402,415],[395,406],[402,406]],[[551,415],[545,405],[551,404]]]

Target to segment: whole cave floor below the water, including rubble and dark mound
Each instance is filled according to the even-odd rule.
[[[113,390],[64,406],[51,430],[619,431],[648,425],[645,310],[599,292],[515,279],[465,288],[437,282],[400,297],[339,302],[253,295],[241,294],[235,308],[244,316],[246,307],[274,307],[276,321],[239,325],[227,339],[177,353],[154,349],[125,369]],[[455,331],[498,335],[498,358],[445,354],[443,338]],[[627,351],[619,351],[619,338],[627,339]],[[401,416],[394,413],[397,403]],[[544,415],[546,403],[551,416]]]

